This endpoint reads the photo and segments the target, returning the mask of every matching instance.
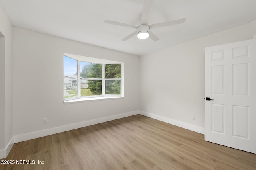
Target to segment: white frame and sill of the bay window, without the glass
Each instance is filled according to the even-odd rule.
[[[123,98],[124,97],[124,63],[118,61],[110,61],[106,59],[98,59],[93,57],[85,57],[80,55],[73,55],[64,53],[64,56],[69,57],[77,61],[77,77],[72,78],[77,80],[77,94],[74,97],[64,98],[64,89],[63,89],[63,98],[64,103],[70,102],[83,102],[91,100],[105,100],[105,99],[114,99],[114,98]],[[102,78],[80,78],[80,62],[95,63],[102,65]],[[105,66],[106,64],[121,64],[121,78],[106,78],[105,76]],[[71,78],[71,77],[64,77]],[[102,94],[101,95],[92,95],[92,96],[80,96],[80,87],[81,80],[101,80],[102,81]],[[106,80],[120,80],[120,94],[105,94]]]

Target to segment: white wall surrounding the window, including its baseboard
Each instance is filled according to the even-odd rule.
[[[124,98],[63,104],[63,53],[124,62]],[[138,84],[138,56],[13,28],[15,142],[136,114]]]

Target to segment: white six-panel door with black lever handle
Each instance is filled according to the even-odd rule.
[[[256,154],[256,39],[205,49],[205,140]]]

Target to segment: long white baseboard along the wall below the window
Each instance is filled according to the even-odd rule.
[[[123,117],[128,117],[128,116],[132,116],[132,115],[136,115],[136,114],[139,114],[139,111],[132,111],[132,112],[128,112],[128,113],[122,113],[122,114],[119,114],[119,115],[112,115],[112,116],[108,116],[108,117],[102,117],[102,118],[93,119],[93,120],[89,120],[89,121],[83,121],[83,122],[74,123],[74,124],[70,124],[70,125],[54,127],[54,128],[45,129],[45,130],[42,130],[42,131],[35,131],[35,132],[26,133],[26,134],[22,134],[22,135],[16,135],[16,136],[14,136],[14,143],[27,141],[27,140],[30,140],[30,139],[35,139],[35,138],[38,138],[38,137],[44,137],[44,136],[47,136],[47,135],[52,135],[52,134],[60,133],[60,132],[64,132],[64,131],[70,131],[70,130],[73,130],[73,129],[78,129],[78,128],[81,128],[81,127],[95,125],[95,124],[98,124],[98,123],[103,123],[103,122],[106,122],[106,121],[120,119],[120,118],[123,118]]]

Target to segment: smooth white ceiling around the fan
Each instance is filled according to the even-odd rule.
[[[55,35],[134,55],[236,27],[256,19],[256,0],[154,0],[149,25],[179,18],[186,22],[152,30],[159,38],[121,41],[140,25],[144,0],[0,0],[15,27]]]

